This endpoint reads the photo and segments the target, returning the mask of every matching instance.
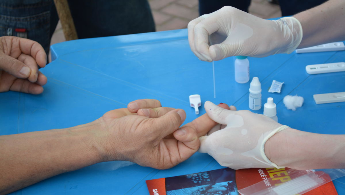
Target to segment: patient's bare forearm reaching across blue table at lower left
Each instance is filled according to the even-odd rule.
[[[92,146],[95,126],[0,136],[0,194],[101,162]]]

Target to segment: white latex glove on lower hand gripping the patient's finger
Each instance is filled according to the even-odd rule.
[[[283,168],[267,158],[264,147],[270,137],[287,126],[249,110],[226,110],[210,101],[206,101],[205,110],[212,120],[227,126],[200,137],[199,152],[232,169]]]

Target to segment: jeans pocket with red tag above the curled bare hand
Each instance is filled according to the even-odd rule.
[[[0,36],[17,36],[37,41],[48,53],[50,45],[50,11],[25,17],[0,14]]]

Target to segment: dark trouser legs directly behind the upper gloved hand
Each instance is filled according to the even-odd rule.
[[[278,0],[282,16],[294,15],[300,11],[318,6],[326,0]],[[199,0],[199,14],[214,12],[224,6],[232,6],[242,11],[248,12],[250,0]]]

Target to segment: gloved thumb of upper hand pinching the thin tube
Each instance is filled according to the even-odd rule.
[[[209,47],[209,54],[212,60],[217,61],[224,58],[227,58],[229,56],[238,56],[236,51],[239,49],[238,47],[234,47],[231,44],[228,43],[219,43],[215,45],[211,45]]]

